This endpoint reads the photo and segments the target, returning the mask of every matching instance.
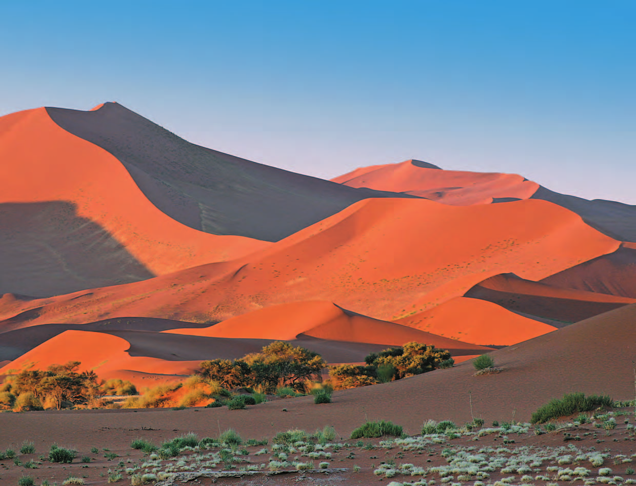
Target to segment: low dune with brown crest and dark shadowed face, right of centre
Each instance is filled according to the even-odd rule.
[[[555,287],[513,274],[490,277],[465,296],[487,300],[513,312],[562,321],[558,327],[636,302],[632,298]]]

